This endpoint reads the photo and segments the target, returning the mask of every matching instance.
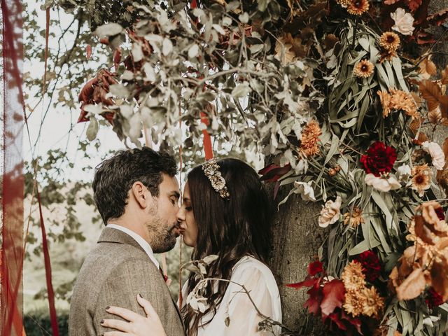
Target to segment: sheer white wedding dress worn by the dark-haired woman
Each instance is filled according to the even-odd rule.
[[[279,288],[269,267],[253,257],[245,256],[233,267],[230,280],[246,287],[262,314],[271,317],[274,321],[281,322]],[[188,281],[182,288],[183,305],[186,304],[186,297],[188,297],[187,286]],[[209,321],[211,317],[211,314],[203,316],[202,324]],[[228,326],[225,325],[227,317],[230,318]],[[258,331],[258,323],[262,320],[263,318],[258,316],[241,286],[229,283],[213,319],[206,325],[200,323],[197,336],[272,335],[270,331]],[[281,328],[277,325],[273,330],[276,336],[281,333]]]

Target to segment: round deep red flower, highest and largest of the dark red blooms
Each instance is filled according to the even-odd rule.
[[[377,141],[370,146],[366,155],[361,156],[360,162],[364,165],[365,172],[380,176],[381,173],[391,171],[395,160],[397,160],[395,149]]]

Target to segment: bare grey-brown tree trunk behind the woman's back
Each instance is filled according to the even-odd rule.
[[[277,195],[276,203],[288,194],[289,190],[284,189]],[[320,211],[320,203],[304,202],[300,195],[292,195],[274,218],[270,266],[279,283],[283,324],[300,335],[328,335],[304,309],[307,288],[295,290],[285,286],[302,281],[307,276],[307,265],[316,258],[324,237],[324,230],[317,225]]]

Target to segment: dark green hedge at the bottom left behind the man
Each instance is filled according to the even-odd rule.
[[[24,314],[23,323],[27,336],[52,335],[51,321],[48,313]],[[57,313],[57,324],[59,325],[59,335],[69,335],[69,312]],[[44,331],[45,330],[45,331]]]

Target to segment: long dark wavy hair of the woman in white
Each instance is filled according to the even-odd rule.
[[[212,188],[201,165],[193,168],[187,176],[198,228],[192,260],[216,254],[219,258],[211,264],[207,276],[230,279],[232,267],[244,255],[252,255],[262,262],[267,260],[271,250],[272,206],[265,186],[252,167],[237,159],[223,159],[217,163],[230,193],[228,200]],[[195,274],[190,274],[188,293],[195,288],[197,281]],[[212,290],[212,285],[209,283],[207,287],[210,303],[207,311],[197,313],[188,304],[182,309],[189,336],[197,335],[202,316],[210,311],[216,314],[223,300],[228,283],[219,281],[217,293]]]

